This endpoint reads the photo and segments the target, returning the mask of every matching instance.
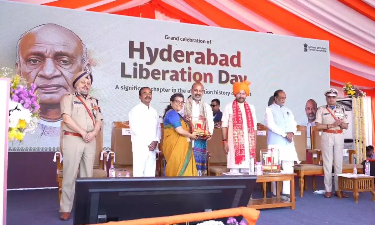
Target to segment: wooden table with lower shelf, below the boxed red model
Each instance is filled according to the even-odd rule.
[[[276,197],[275,198],[263,198],[260,199],[250,199],[248,207],[255,208],[255,209],[263,209],[263,208],[280,208],[280,207],[290,207],[291,209],[296,208],[296,200],[294,194],[294,176],[297,175],[295,173],[292,174],[264,174],[257,177],[257,183],[266,183],[272,181],[290,181],[290,201],[284,199],[280,196],[280,182],[276,182]]]

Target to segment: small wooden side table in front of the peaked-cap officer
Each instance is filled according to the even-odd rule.
[[[375,201],[374,178],[372,176],[344,177],[343,174],[336,175],[339,178],[338,197],[341,199],[341,191],[353,192],[354,202],[358,203],[359,192],[371,192],[372,201]]]

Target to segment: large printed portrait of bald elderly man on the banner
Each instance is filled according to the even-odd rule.
[[[26,138],[38,136],[39,142],[30,142],[35,142],[32,144],[35,147],[58,147],[62,120],[60,99],[66,92],[74,92],[71,86],[74,74],[87,69],[92,71],[86,45],[77,34],[65,27],[42,24],[20,36],[15,68],[29,84],[36,85],[39,96],[38,128]],[[33,147],[28,142],[25,140],[23,147]]]

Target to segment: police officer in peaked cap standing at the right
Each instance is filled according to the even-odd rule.
[[[342,160],[344,151],[344,133],[343,129],[348,129],[348,115],[345,108],[336,106],[338,91],[336,89],[327,90],[327,105],[323,105],[317,110],[317,119],[315,126],[322,130],[321,151],[323,157],[324,186],[326,193],[324,197],[330,198],[332,193],[332,161],[335,168],[335,174],[342,173]],[[335,195],[338,195],[338,177],[335,177]],[[341,196],[348,198],[344,192]]]

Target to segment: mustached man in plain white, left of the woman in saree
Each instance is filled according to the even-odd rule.
[[[157,144],[160,142],[160,122],[151,107],[151,89],[139,90],[141,102],[129,112],[130,135],[133,151],[133,177],[154,177],[156,173]]]

